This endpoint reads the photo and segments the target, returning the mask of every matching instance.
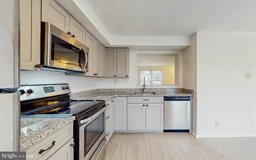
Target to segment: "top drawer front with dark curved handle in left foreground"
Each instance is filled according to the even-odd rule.
[[[48,158],[50,155],[52,155],[56,150],[58,150],[61,146],[63,146],[68,140],[72,139],[73,137],[73,122],[66,125],[65,127],[62,127],[58,131],[55,131],[54,133],[48,135],[44,139],[36,142],[32,146],[28,147],[24,150],[26,154],[33,155],[32,158],[27,158],[27,160],[43,160]],[[55,144],[52,148],[50,148],[47,151],[42,152],[42,154],[39,154],[38,152],[43,149],[46,150],[50,146],[52,146],[52,142],[55,141]]]

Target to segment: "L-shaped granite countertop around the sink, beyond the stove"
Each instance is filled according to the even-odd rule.
[[[105,100],[108,101],[114,97],[152,97],[152,96],[193,96],[186,92],[154,92],[156,94],[136,95],[135,92],[97,92],[90,95],[74,96],[73,100]]]

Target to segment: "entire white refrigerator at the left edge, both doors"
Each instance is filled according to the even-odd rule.
[[[19,0],[1,0],[0,31],[0,151],[20,151]]]

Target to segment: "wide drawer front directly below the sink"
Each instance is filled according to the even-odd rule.
[[[127,103],[164,103],[164,97],[127,97]]]

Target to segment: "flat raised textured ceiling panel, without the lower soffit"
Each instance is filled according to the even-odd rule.
[[[111,36],[256,31],[256,0],[86,0]]]

